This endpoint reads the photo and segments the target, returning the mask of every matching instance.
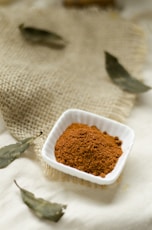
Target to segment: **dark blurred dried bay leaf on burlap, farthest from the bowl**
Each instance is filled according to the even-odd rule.
[[[30,26],[19,25],[22,36],[34,44],[46,45],[56,49],[62,49],[66,46],[66,41],[58,34],[44,29]]]

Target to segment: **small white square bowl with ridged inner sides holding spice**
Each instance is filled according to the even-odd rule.
[[[106,131],[111,136],[118,136],[119,139],[122,141],[122,155],[119,157],[114,169],[104,178],[100,176],[94,176],[93,174],[86,173],[76,168],[64,165],[56,160],[54,154],[56,141],[65,131],[65,129],[72,123],[81,123],[88,126],[96,126],[102,132]],[[75,176],[83,180],[90,181],[92,183],[108,185],[114,183],[121,174],[133,142],[134,131],[130,127],[115,120],[91,112],[79,109],[68,109],[63,112],[63,114],[57,120],[51,132],[49,133],[42,148],[42,157],[44,161],[48,163],[48,165],[66,174],[70,174],[71,176]]]

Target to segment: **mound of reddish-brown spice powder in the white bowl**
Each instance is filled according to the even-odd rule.
[[[56,160],[70,167],[105,177],[122,155],[118,137],[100,131],[96,126],[71,124],[55,145]]]

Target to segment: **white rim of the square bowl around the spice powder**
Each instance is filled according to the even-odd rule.
[[[115,167],[114,167],[114,169],[110,173],[108,173],[106,175],[106,177],[104,177],[104,178],[100,177],[100,176],[94,176],[93,174],[86,173],[84,171],[80,171],[78,169],[75,169],[75,168],[72,168],[70,166],[67,166],[67,165],[64,165],[62,163],[57,162],[56,159],[55,159],[55,155],[54,155],[54,159],[51,158],[51,154],[54,154],[54,151],[53,151],[53,153],[52,153],[52,151],[50,151],[51,152],[50,157],[48,155],[48,145],[49,145],[49,143],[50,143],[50,141],[52,139],[52,136],[55,134],[56,129],[59,127],[59,125],[63,124],[62,123],[63,120],[67,119],[68,115],[70,115],[70,114],[75,114],[76,115],[76,113],[79,114],[79,115],[83,114],[83,116],[88,116],[90,118],[94,117],[95,119],[100,120],[102,122],[104,121],[107,124],[114,124],[114,126],[119,126],[119,127],[123,128],[124,130],[128,130],[128,132],[129,132],[129,134],[131,136],[128,149],[126,150],[125,153],[123,152],[122,155],[120,156],[120,158],[118,159],[119,165],[118,165],[118,162],[117,162]],[[74,119],[74,116],[73,116],[73,119]],[[74,123],[74,122],[71,122],[70,124],[72,124],[72,123]],[[78,123],[78,122],[75,122],[75,123]],[[79,122],[79,123],[88,124],[87,122]],[[96,124],[94,124],[94,125],[96,125]],[[64,127],[64,130],[65,130],[68,127],[68,125],[67,126],[63,125],[63,127]],[[60,135],[58,135],[58,137]],[[54,139],[57,141],[57,138],[54,138]],[[46,138],[46,141],[43,144],[41,154],[42,154],[42,158],[44,159],[45,162],[48,163],[48,165],[50,165],[51,167],[53,167],[53,168],[55,168],[55,169],[57,169],[57,170],[59,170],[59,171],[61,171],[63,173],[69,174],[71,176],[78,177],[78,178],[83,179],[83,180],[90,181],[92,183],[96,183],[96,184],[100,184],[100,185],[109,185],[109,184],[114,183],[119,178],[119,176],[120,176],[120,174],[121,174],[121,172],[122,172],[122,170],[123,170],[123,168],[125,166],[125,163],[126,163],[126,160],[128,158],[128,155],[129,155],[129,153],[131,151],[131,148],[133,146],[134,139],[135,139],[134,130],[132,128],[130,128],[129,126],[127,126],[127,125],[125,125],[125,124],[123,124],[121,122],[118,122],[116,120],[113,120],[111,118],[102,116],[102,115],[98,115],[98,114],[95,114],[95,113],[92,113],[92,112],[89,112],[89,111],[85,111],[85,110],[81,110],[81,109],[72,108],[72,109],[65,110],[61,114],[61,116],[57,119],[57,121],[55,122],[55,124],[52,127],[51,131],[49,132],[49,134],[48,134],[48,136]],[[55,146],[55,144],[53,146]],[[123,159],[122,159],[122,156],[123,156]],[[120,162],[120,159],[121,159],[121,162]]]

